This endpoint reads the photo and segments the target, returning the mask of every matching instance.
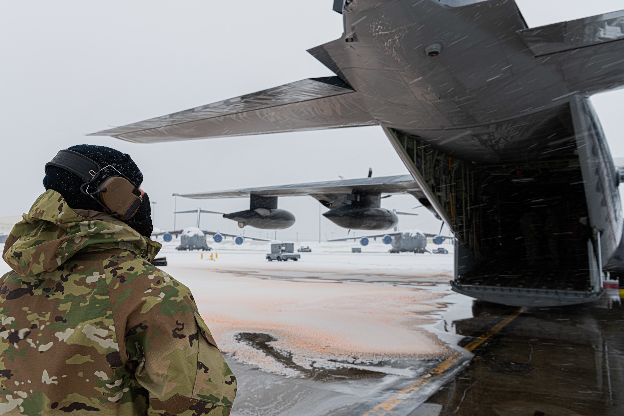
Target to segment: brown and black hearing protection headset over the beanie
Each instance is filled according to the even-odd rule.
[[[46,163],[46,171],[48,166],[60,167],[80,177],[84,181],[84,184],[80,186],[80,192],[92,197],[107,214],[120,220],[132,218],[143,202],[144,192],[122,172],[117,171],[112,165],[100,167],[92,159],[79,152],[59,151],[54,159]],[[108,167],[115,169],[119,176],[107,177],[94,192],[89,192],[89,186],[97,181],[100,173]]]

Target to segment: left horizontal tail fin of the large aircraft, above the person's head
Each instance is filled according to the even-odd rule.
[[[155,143],[378,124],[358,92],[333,76],[303,79],[89,136]]]

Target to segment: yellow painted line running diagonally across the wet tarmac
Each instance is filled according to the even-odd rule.
[[[512,320],[519,317],[520,314],[522,314],[521,310],[514,312],[511,315],[508,315],[504,319],[500,320],[498,324],[494,325],[490,330],[480,335],[479,338],[470,342],[470,344],[466,345],[466,347],[464,348],[469,350],[470,352],[474,351],[477,347],[479,347],[479,345],[483,344],[485,341],[487,341],[494,335],[498,334],[501,329],[509,325],[512,322]],[[434,376],[442,375],[444,374],[444,372],[451,369],[455,364],[457,364],[462,359],[462,357],[463,356],[461,354],[456,353],[452,357],[447,358],[446,360],[438,364],[436,367],[434,367],[434,369],[429,371],[427,374],[421,375],[421,379],[399,390],[399,392],[394,394],[390,399],[386,400],[383,403],[376,405],[373,408],[373,410],[370,410],[369,412],[365,413],[363,416],[383,416],[387,414],[390,410],[394,409],[399,404],[409,399],[411,395],[421,390],[422,387],[431,383],[433,380],[436,380],[437,377],[434,377]]]

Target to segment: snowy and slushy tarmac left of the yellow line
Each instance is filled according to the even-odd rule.
[[[203,259],[177,245],[163,243],[162,269],[190,287],[239,379],[232,415],[364,409],[457,355],[445,320],[470,316],[472,301],[448,284],[451,245],[389,254],[381,242],[306,242],[297,262],[268,262],[263,242],[210,244]]]

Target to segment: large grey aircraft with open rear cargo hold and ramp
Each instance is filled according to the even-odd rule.
[[[343,35],[308,52],[336,76],[95,134],[154,143],[381,126],[412,192],[456,235],[453,290],[509,305],[598,299],[603,272],[624,272],[622,175],[589,97],[624,86],[624,11],[528,27],[514,0],[334,10]]]

